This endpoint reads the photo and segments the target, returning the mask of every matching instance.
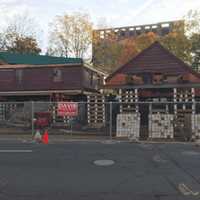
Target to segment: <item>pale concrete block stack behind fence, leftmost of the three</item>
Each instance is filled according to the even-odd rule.
[[[117,137],[128,137],[138,139],[140,136],[140,114],[118,114],[117,115]]]

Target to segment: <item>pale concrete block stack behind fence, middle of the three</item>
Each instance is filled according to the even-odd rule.
[[[172,114],[149,115],[149,138],[173,138],[174,116]]]

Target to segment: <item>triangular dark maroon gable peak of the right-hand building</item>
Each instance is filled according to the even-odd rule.
[[[106,81],[112,79],[116,74],[139,74],[145,72],[173,75],[191,73],[200,78],[199,73],[165,49],[159,42],[155,42],[128,63],[118,68],[108,76]]]

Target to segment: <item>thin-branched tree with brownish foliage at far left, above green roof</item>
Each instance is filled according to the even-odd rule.
[[[0,34],[0,49],[15,53],[39,54],[41,49],[36,39],[36,27],[34,20],[28,15],[14,16]]]

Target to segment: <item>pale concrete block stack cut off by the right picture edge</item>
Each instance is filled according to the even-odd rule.
[[[192,139],[200,139],[200,114],[191,115]]]

